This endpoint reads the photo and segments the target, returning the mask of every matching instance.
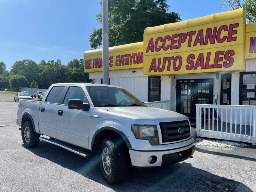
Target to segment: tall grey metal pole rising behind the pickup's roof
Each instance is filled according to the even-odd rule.
[[[102,0],[102,80],[108,84],[108,0]]]

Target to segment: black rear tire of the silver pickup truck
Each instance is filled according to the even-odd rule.
[[[28,140],[28,135],[27,135],[27,139],[25,138],[25,129],[28,127],[28,130],[29,130],[29,135],[30,135],[30,139]],[[27,132],[27,130],[26,130]],[[32,123],[31,121],[26,121],[23,126],[22,126],[22,131],[21,131],[21,136],[22,136],[22,140],[23,140],[23,143],[26,147],[28,148],[33,148],[33,147],[36,147],[39,143],[39,137],[40,137],[40,134],[39,133],[36,133],[34,132],[34,129],[33,129],[33,126],[32,126]],[[27,142],[27,141],[28,142]]]

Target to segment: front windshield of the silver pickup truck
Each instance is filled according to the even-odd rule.
[[[143,103],[133,96],[130,92],[122,88],[107,87],[106,86],[88,86],[93,105],[95,107],[108,106],[144,106]]]

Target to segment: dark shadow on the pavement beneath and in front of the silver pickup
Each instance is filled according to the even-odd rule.
[[[225,189],[228,188],[228,191],[252,192],[243,183],[214,175],[186,162],[170,167],[140,170],[133,168],[127,181],[110,186],[103,179],[99,165],[94,165],[90,159],[44,141],[40,141],[37,148],[27,149],[115,191],[227,191]]]

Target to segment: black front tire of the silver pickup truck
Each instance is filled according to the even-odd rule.
[[[100,145],[100,170],[103,175],[104,180],[110,184],[114,185],[122,182],[129,176],[129,156],[127,155],[127,148],[123,144],[118,146],[116,138],[105,138],[102,140]],[[109,150],[109,162],[111,163],[111,171],[107,174],[103,167],[103,150],[108,148]],[[107,156],[105,156],[107,157]],[[106,159],[106,158],[105,158]],[[105,163],[107,166],[107,163]],[[108,169],[109,171],[109,169]]]

